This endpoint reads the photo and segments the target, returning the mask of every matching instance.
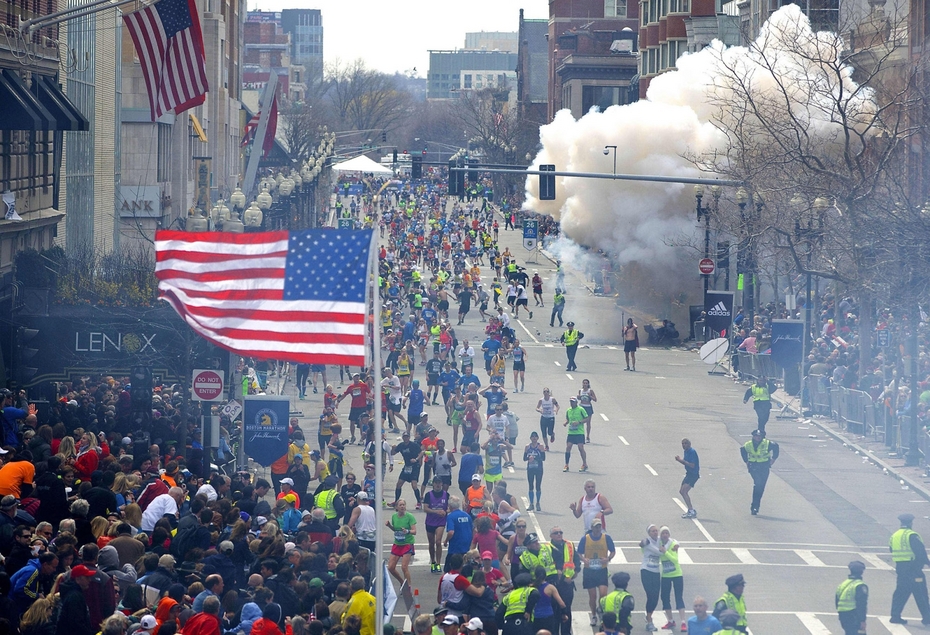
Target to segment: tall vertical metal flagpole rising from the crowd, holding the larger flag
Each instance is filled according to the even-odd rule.
[[[371,504],[375,506],[376,552],[372,554],[372,558],[375,564],[375,597],[377,598],[378,605],[377,611],[375,612],[375,635],[381,635],[381,633],[384,632],[384,566],[382,565],[383,547],[381,542],[382,528],[384,527],[382,513],[384,507],[382,503],[384,500],[384,478],[382,474],[384,474],[384,462],[387,459],[385,459],[381,453],[381,448],[383,447],[383,441],[381,440],[381,432],[383,430],[381,409],[384,407],[382,403],[381,382],[378,381],[381,372],[381,288],[378,285],[378,274],[380,273],[378,267],[378,232],[374,229],[371,230],[371,256],[369,258],[369,263],[373,303],[371,332],[372,345],[374,348],[372,351],[371,376],[373,378],[372,388],[375,392],[375,416],[368,424],[372,426],[375,431],[372,435],[374,441],[372,463],[375,465],[375,500],[371,501]],[[370,564],[371,562],[369,562],[369,566]]]

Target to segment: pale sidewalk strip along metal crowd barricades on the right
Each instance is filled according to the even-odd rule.
[[[779,408],[787,407],[786,412],[794,414],[798,421],[817,426],[828,437],[839,441],[845,447],[848,447],[851,452],[866,457],[873,465],[881,468],[883,472],[899,481],[902,486],[909,487],[914,493],[930,501],[930,476],[928,476],[926,466],[910,467],[905,465],[904,456],[889,451],[883,442],[869,436],[862,436],[844,430],[838,422],[829,417],[820,415],[802,416],[799,399],[788,395],[781,388],[772,395],[772,401],[777,403]]]

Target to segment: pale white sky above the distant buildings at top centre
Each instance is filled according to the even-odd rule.
[[[457,49],[471,31],[516,31],[520,9],[526,18],[547,18],[548,0],[248,0],[250,10],[320,9],[323,57],[361,57],[386,73],[426,77],[429,49]]]

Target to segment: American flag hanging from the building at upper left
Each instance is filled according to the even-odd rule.
[[[142,66],[152,121],[202,104],[207,64],[195,0],[159,0],[123,21]]]

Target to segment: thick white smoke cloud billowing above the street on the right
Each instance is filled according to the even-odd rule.
[[[678,70],[652,80],[645,101],[592,111],[579,120],[567,110],[557,113],[540,129],[543,149],[533,166],[552,163],[559,171],[610,173],[613,153],[605,156],[604,146],[616,145],[618,173],[712,176],[684,157],[726,153],[725,135],[711,123],[714,117],[729,116],[719,104],[735,95],[721,65],[738,69],[737,75],[751,84],[763,104],[776,103],[779,82],[796,86],[792,98],[803,106],[795,114],[812,122],[815,138],[819,135],[823,143],[830,143],[838,127],[831,101],[823,96],[830,89],[841,85],[847,94],[859,90],[850,112],[860,126],[868,125],[872,114],[870,93],[858,89],[848,68],[831,75],[829,68],[809,61],[831,56],[838,60],[843,48],[835,35],[813,33],[800,9],[787,5],[772,15],[753,47],[726,49],[714,42],[679,59]],[[762,55],[768,63],[774,60],[774,72],[763,66]],[[825,93],[811,88],[812,76],[818,76],[818,89],[827,86]],[[621,265],[637,262],[682,270],[682,259],[687,258],[683,270],[697,281],[695,254],[669,244],[697,230],[692,186],[557,177],[556,195],[554,201],[540,201],[538,177],[529,177],[524,207],[560,219],[573,241],[601,249]],[[676,282],[681,288],[681,281]]]

